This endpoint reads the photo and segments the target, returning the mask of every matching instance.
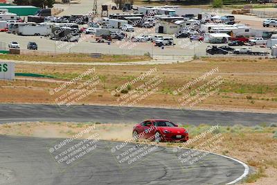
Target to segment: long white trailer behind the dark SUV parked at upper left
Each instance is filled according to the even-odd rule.
[[[52,33],[51,26],[48,25],[26,25],[20,26],[18,30],[18,35],[26,36],[46,36]]]

